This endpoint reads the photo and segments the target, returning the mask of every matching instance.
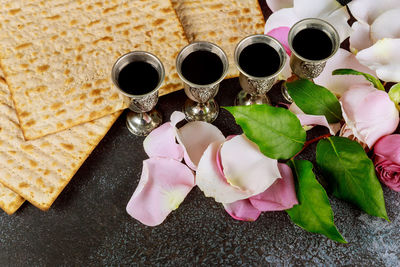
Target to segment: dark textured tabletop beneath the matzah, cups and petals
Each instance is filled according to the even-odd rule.
[[[264,11],[265,10],[265,7]],[[266,12],[267,14],[267,12]],[[224,81],[217,100],[231,105],[237,79]],[[270,93],[281,101],[279,88]],[[168,120],[183,92],[161,98]],[[331,198],[335,222],[349,244],[310,234],[285,212],[238,222],[195,188],[158,227],[129,217],[125,206],[141,171],[143,138],[129,134],[125,114],[81,167],[48,212],[25,203],[13,216],[0,214],[0,265],[374,265],[399,266],[400,194],[384,188],[391,223]],[[215,122],[225,135],[240,133],[224,110]],[[309,138],[327,133],[316,127]],[[300,158],[314,160],[315,146]]]

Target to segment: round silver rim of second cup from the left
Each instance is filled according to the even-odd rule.
[[[192,83],[191,81],[187,80],[187,79],[185,78],[185,76],[182,75],[182,71],[180,70],[180,68],[178,68],[179,56],[180,56],[185,50],[189,49],[190,47],[192,47],[192,46],[194,46],[194,45],[196,45],[196,44],[206,44],[206,45],[213,46],[213,47],[215,47],[217,50],[219,50],[219,51],[221,52],[221,54],[223,55],[223,57],[225,58],[226,64],[223,64],[223,65],[224,65],[224,70],[222,71],[221,77],[220,77],[218,80],[216,80],[215,82],[213,82],[213,83],[210,83],[210,84],[203,84],[203,85]],[[224,60],[221,59],[221,61],[223,62]],[[226,56],[226,53],[224,52],[224,50],[222,50],[222,48],[219,47],[218,45],[216,45],[216,44],[214,44],[214,43],[211,43],[211,42],[207,42],[207,41],[195,41],[195,42],[192,42],[192,43],[186,45],[184,48],[182,48],[182,50],[179,52],[178,56],[176,57],[175,66],[176,66],[176,70],[177,70],[177,72],[178,72],[179,78],[180,78],[184,83],[186,83],[187,85],[189,85],[190,87],[195,87],[195,88],[209,88],[209,87],[213,87],[213,86],[219,84],[219,83],[222,82],[222,80],[225,78],[225,76],[226,76],[226,74],[228,73],[228,70],[229,70],[228,57]]]

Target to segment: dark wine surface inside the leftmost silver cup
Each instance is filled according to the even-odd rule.
[[[144,61],[126,65],[118,75],[118,85],[130,95],[143,95],[153,91],[159,83],[157,70]]]

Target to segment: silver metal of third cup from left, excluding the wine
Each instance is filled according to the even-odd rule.
[[[269,76],[252,76],[251,74],[246,73],[240,66],[239,59],[242,51],[246,47],[257,43],[263,43],[272,47],[279,55],[279,68],[276,70],[275,73]],[[237,95],[235,99],[235,105],[248,106],[253,104],[270,104],[269,98],[266,93],[271,90],[272,86],[275,84],[277,77],[283,70],[286,62],[286,51],[282,44],[275,38],[267,35],[250,35],[240,41],[239,44],[236,46],[234,59],[236,67],[240,71],[239,83],[243,89]],[[264,62],[264,64],[268,64],[268,62]]]

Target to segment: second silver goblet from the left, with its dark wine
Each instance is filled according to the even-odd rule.
[[[176,69],[188,97],[183,107],[187,121],[213,122],[218,117],[214,97],[228,67],[225,52],[213,43],[193,42],[181,50]]]

